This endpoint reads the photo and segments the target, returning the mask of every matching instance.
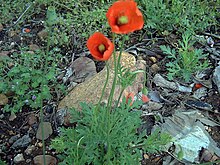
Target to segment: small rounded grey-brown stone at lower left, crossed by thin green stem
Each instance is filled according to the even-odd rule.
[[[50,122],[43,122],[43,126],[44,126],[44,140],[46,140],[53,133],[53,130]],[[36,138],[42,140],[41,123],[38,126]]]

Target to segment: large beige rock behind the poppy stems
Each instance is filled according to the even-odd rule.
[[[116,54],[118,57],[118,53]],[[112,82],[114,77],[114,59],[113,56],[109,59],[109,66],[110,66],[110,76],[109,81],[102,99],[102,102],[107,103],[111,88]],[[135,57],[129,53],[123,52],[121,56],[121,65],[130,68],[131,70],[142,69],[145,70],[145,61],[138,60],[136,61]],[[143,81],[144,81],[144,74],[139,73],[136,77],[135,82],[132,86],[129,86],[124,91],[123,95],[126,96],[129,92],[133,92],[134,94],[138,93],[140,89],[142,89]],[[107,69],[106,67],[93,77],[87,79],[83,83],[77,85],[69,94],[60,101],[58,105],[59,109],[69,109],[69,108],[77,108],[80,110],[79,103],[80,102],[87,102],[87,103],[98,103],[104,83],[106,81]],[[116,101],[120,94],[120,86],[116,86],[116,90],[114,93],[114,100]]]

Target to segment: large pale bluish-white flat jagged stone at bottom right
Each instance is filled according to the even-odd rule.
[[[201,118],[208,119],[198,110],[176,109],[172,116],[163,118],[162,124],[154,125],[153,130],[160,129],[162,133],[168,133],[172,137],[172,142],[165,147],[168,149],[175,145],[173,152],[175,156],[179,156],[181,151],[184,162],[199,163],[202,148],[220,156],[220,148],[199,121]]]

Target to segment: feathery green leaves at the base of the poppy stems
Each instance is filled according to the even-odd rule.
[[[149,137],[145,133],[138,135],[141,111],[132,109],[138,108],[140,101],[129,104],[124,98],[119,107],[112,109],[109,119],[105,105],[97,111],[95,106],[82,103],[82,111],[70,110],[71,122],[76,127],[62,128],[60,136],[51,144],[60,153],[61,164],[103,165],[107,163],[107,150],[110,150],[111,164],[138,164],[142,158],[140,148],[150,153],[161,151],[171,141],[170,136],[159,131]],[[110,128],[106,121],[110,122]]]

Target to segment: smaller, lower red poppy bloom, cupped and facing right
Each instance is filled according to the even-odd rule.
[[[100,32],[89,37],[87,47],[92,56],[100,61],[108,60],[114,50],[113,43]]]

